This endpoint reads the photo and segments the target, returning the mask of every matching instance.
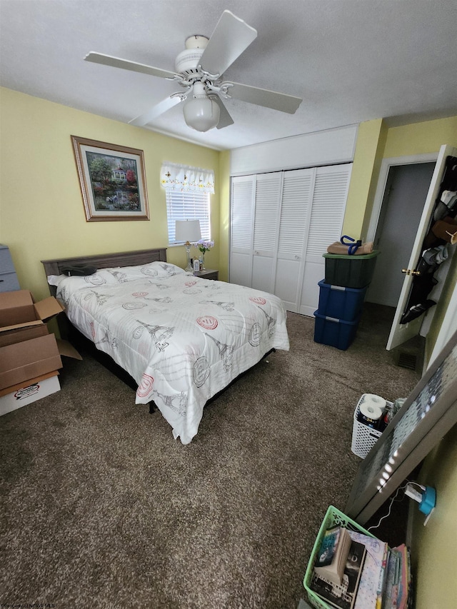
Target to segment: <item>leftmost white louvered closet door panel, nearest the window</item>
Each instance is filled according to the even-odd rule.
[[[255,176],[231,180],[230,281],[251,287]]]

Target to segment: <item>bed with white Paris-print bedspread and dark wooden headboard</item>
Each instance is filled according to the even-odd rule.
[[[165,249],[42,261],[72,326],[136,383],[188,444],[204,405],[272,349],[288,350],[286,310],[266,292],[199,278]],[[87,276],[62,269],[91,266]]]

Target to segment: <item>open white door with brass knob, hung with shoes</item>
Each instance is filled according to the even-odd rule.
[[[414,241],[411,256],[409,258],[409,273],[405,275],[405,278],[403,280],[400,298],[398,300],[395,316],[393,318],[391,333],[388,337],[386,346],[386,349],[388,351],[395,347],[398,347],[398,345],[401,345],[402,343],[405,343],[406,341],[410,340],[410,338],[413,338],[413,336],[417,336],[421,329],[423,316],[413,319],[413,321],[410,321],[409,323],[400,324],[399,322],[401,320],[401,316],[403,315],[403,311],[406,308],[409,294],[411,292],[411,287],[413,283],[413,275],[411,275],[411,271],[414,271],[416,269],[416,265],[418,264],[418,261],[421,258],[422,243],[424,238],[426,237],[426,233],[428,232],[428,228],[430,226],[431,215],[433,213],[433,208],[436,203],[436,198],[440,189],[441,180],[443,178],[446,157],[456,155],[457,150],[452,146],[441,146],[441,149],[438,154],[438,159],[436,161],[435,171],[433,171],[430,187],[428,188],[426,203],[423,207],[423,212],[421,216],[421,221],[419,222],[416,239]],[[398,271],[400,270],[401,269],[398,269]]]

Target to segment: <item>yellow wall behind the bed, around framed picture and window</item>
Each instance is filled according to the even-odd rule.
[[[0,89],[0,243],[9,246],[21,288],[49,295],[41,260],[114,251],[167,247],[161,163],[172,161],[215,173],[207,266],[219,268],[219,151],[128,124]],[[86,222],[71,135],[144,151],[149,221]],[[183,247],[169,261],[186,266]]]

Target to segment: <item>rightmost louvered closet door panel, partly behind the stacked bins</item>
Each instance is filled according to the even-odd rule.
[[[352,163],[316,168],[311,219],[306,243],[300,313],[312,316],[318,307],[318,281],[325,276],[327,247],[341,238]]]

